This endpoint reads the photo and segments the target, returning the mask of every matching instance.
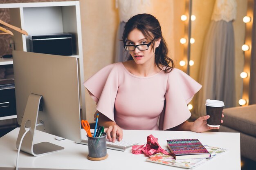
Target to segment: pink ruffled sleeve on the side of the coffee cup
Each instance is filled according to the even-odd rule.
[[[159,119],[159,129],[173,128],[189,119],[187,104],[202,86],[186,73],[174,69],[168,75],[164,109]]]

